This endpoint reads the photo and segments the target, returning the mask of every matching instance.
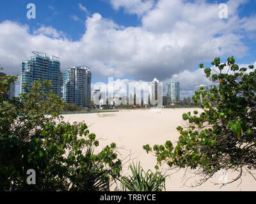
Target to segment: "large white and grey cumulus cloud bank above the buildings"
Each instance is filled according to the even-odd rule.
[[[243,57],[248,52],[243,40],[256,31],[255,16],[239,18],[237,9],[244,3],[240,0],[228,1],[225,20],[218,17],[218,4],[208,1],[110,2],[115,9],[124,7],[140,15],[141,25],[124,27],[93,13],[86,17],[81,39],[72,41],[53,27],[42,25],[31,31],[28,25],[6,20],[0,23],[0,63],[16,75],[20,61],[36,50],[61,57],[62,71],[86,65],[97,78],[177,80],[182,93],[188,94],[206,83],[202,70],[194,71],[196,64],[214,57]],[[79,8],[87,11],[82,4]]]

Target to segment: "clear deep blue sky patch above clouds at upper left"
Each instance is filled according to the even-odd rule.
[[[36,19],[29,20],[26,17],[28,9],[27,4],[36,5]],[[88,13],[79,8],[82,4]],[[127,15],[123,9],[114,10],[108,1],[102,0],[3,0],[0,3],[0,21],[12,20],[21,24],[28,24],[31,29],[37,29],[40,25],[52,26],[59,31],[64,31],[68,37],[76,41],[84,34],[84,20],[92,13],[100,13],[104,18],[115,20],[117,24],[128,26],[137,26],[140,19],[136,15]],[[73,20],[71,17],[76,15],[80,20]]]

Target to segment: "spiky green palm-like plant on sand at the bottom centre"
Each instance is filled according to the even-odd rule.
[[[166,175],[160,172],[153,173],[151,170],[145,172],[140,163],[130,164],[132,176],[122,177],[120,182],[123,191],[165,191]]]

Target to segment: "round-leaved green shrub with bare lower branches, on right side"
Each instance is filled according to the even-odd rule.
[[[193,102],[200,103],[202,97],[202,113],[183,114],[189,126],[177,128],[177,145],[167,141],[153,148],[143,146],[154,153],[158,165],[191,168],[204,175],[199,184],[221,169],[237,170],[237,178],[230,181],[234,182],[244,169],[256,168],[256,70],[253,66],[239,68],[234,57],[228,57],[227,64],[215,58],[212,65],[204,71],[218,87],[209,93],[195,91]]]

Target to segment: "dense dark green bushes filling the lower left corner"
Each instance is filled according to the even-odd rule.
[[[122,170],[115,143],[99,150],[84,122],[64,122],[64,101],[48,81],[8,99],[15,80],[0,80],[0,191],[108,191]],[[36,185],[26,182],[29,169]]]

